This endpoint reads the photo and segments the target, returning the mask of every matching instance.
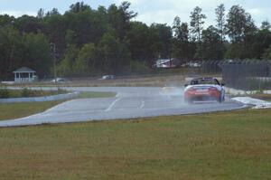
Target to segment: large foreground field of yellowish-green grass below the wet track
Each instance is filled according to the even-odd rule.
[[[271,110],[0,129],[2,179],[271,177]]]

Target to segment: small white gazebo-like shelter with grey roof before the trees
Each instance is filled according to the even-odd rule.
[[[22,67],[14,71],[14,82],[23,83],[23,82],[32,82],[36,71],[33,71],[30,68]]]

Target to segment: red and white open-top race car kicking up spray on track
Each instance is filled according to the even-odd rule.
[[[190,85],[185,85],[184,101],[192,103],[194,101],[225,100],[224,84],[215,78],[192,79]]]

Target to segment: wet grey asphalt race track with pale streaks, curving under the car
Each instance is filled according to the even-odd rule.
[[[145,118],[154,116],[194,114],[241,109],[243,104],[226,99],[223,103],[183,103],[183,89],[97,87],[66,88],[77,91],[113,91],[115,98],[73,99],[40,114],[26,118],[0,121],[0,127],[64,123],[116,118]]]

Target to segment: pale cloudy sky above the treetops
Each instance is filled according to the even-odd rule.
[[[40,8],[45,12],[57,8],[61,14],[69,10],[71,4],[79,0],[0,0],[0,14],[12,14],[16,17],[22,14],[36,15]],[[85,0],[85,4],[96,9],[98,5],[120,5],[123,0]],[[262,21],[271,21],[271,0],[129,0],[131,10],[138,13],[135,20],[145,24],[173,24],[173,18],[178,15],[182,22],[190,22],[190,13],[198,5],[202,13],[207,15],[205,26],[215,24],[214,9],[223,3],[226,12],[232,5],[241,5],[250,13],[257,26]]]

